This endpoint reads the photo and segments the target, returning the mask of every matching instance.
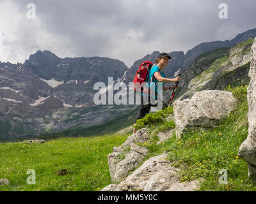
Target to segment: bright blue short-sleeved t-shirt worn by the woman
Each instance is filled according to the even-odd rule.
[[[150,73],[149,73],[149,77],[148,77],[148,81],[147,81],[147,85],[145,85],[145,88],[144,89],[150,89],[150,90],[154,90],[154,85],[155,85],[155,99],[157,99],[157,82],[159,82],[158,80],[157,80],[157,78],[156,77],[154,77],[154,73],[155,72],[160,72],[160,75],[161,75],[161,77],[164,77],[164,72],[162,72],[161,71],[161,69],[159,69],[159,67],[157,66],[157,65],[155,65],[155,66],[153,66],[151,69],[150,69]],[[152,78],[152,82],[150,82],[150,80],[151,80],[151,78]],[[161,83],[163,83],[163,82],[161,82]],[[164,83],[163,83],[163,85],[164,85]],[[162,91],[162,90],[161,90]],[[145,92],[144,92],[144,94],[145,94]],[[142,94],[143,95],[143,94]],[[148,94],[145,94],[145,95],[148,95]],[[152,96],[153,97],[153,95],[152,94],[150,94],[150,96]]]

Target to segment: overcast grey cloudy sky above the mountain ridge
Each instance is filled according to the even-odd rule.
[[[219,17],[221,3],[227,19]],[[156,50],[186,53],[202,42],[231,40],[256,28],[255,10],[255,0],[0,0],[0,61],[23,63],[50,50],[130,67]]]

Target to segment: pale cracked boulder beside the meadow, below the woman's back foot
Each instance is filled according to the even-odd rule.
[[[148,128],[140,129],[132,134],[119,147],[113,148],[113,153],[108,154],[109,173],[112,182],[120,182],[130,171],[134,170],[147,156],[148,150],[145,147],[136,145],[149,140]]]

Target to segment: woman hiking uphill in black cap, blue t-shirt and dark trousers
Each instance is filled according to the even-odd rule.
[[[163,91],[177,88],[175,85],[173,85],[173,86],[164,85],[164,83],[179,82],[179,80],[180,80],[180,77],[176,77],[176,78],[165,78],[164,77],[163,68],[164,68],[164,66],[166,66],[168,64],[170,59],[172,59],[172,57],[169,54],[163,52],[157,57],[157,59],[155,60],[156,64],[154,64],[154,66],[152,66],[152,68],[150,69],[148,82],[150,81],[155,84],[155,99],[157,99],[157,82],[163,83]],[[148,83],[145,86],[145,89],[149,90],[150,85],[152,85],[152,84]],[[143,103],[143,95],[144,94],[145,94],[144,91],[141,92],[141,105],[140,105],[140,110],[138,112],[138,117],[136,118],[136,121],[138,119],[142,119],[143,117],[145,117],[145,115],[150,111],[151,106],[156,106],[156,105],[150,104],[150,99],[148,99],[148,104],[145,105]],[[148,95],[148,96],[152,97],[150,95]],[[136,121],[135,121],[134,125],[136,125]],[[134,128],[133,133],[136,133],[136,131],[137,131],[137,129]]]

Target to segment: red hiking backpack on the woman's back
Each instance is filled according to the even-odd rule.
[[[150,69],[152,68],[153,63],[150,61],[145,61],[140,64],[140,67],[136,71],[135,77],[133,79],[134,91],[136,89],[141,89],[141,84],[147,82]]]

